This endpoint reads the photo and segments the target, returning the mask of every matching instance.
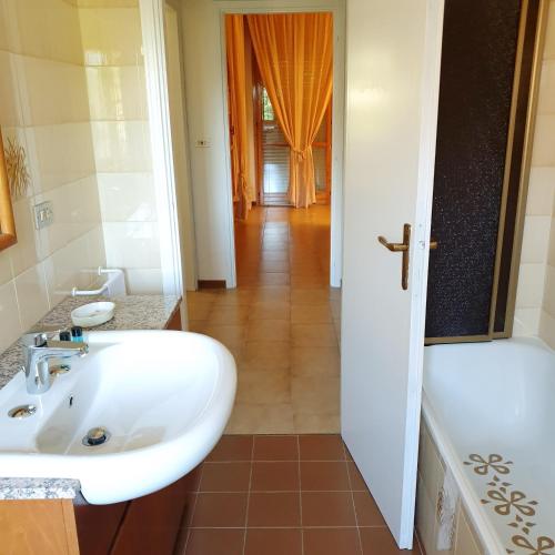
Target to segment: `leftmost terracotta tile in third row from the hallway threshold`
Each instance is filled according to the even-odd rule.
[[[200,493],[194,507],[193,527],[240,527],[245,524],[245,493]]]

